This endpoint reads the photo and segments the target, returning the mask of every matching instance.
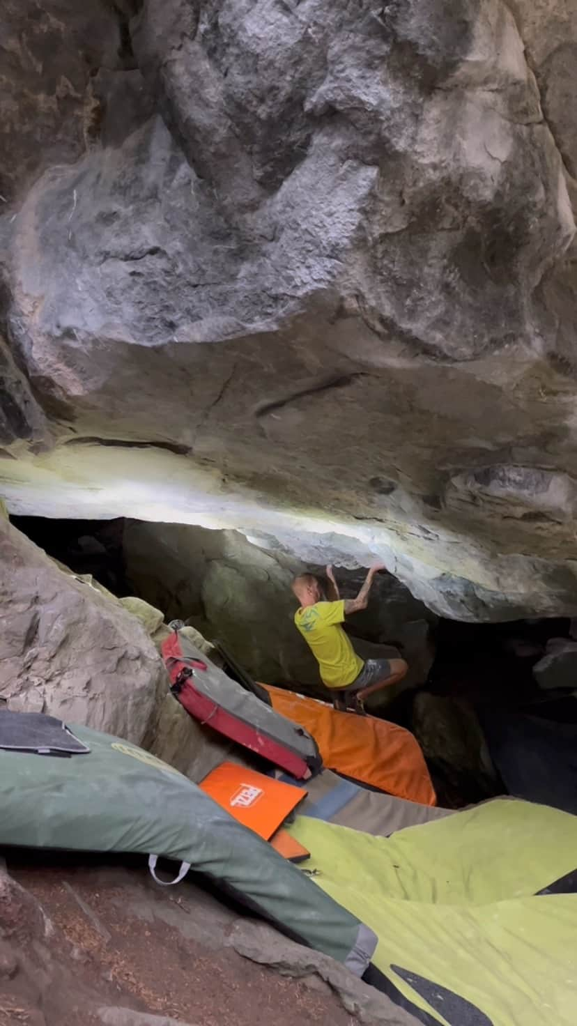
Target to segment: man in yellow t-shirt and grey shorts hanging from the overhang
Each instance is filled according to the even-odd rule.
[[[295,624],[318,662],[322,682],[333,692],[336,708],[352,705],[356,711],[362,711],[364,698],[396,684],[409,669],[403,659],[363,662],[341,627],[345,617],[367,608],[375,575],[385,569],[383,563],[375,563],[356,598],[341,598],[332,566],[326,567],[331,601],[314,575],[301,574],[293,581],[293,591],[300,602]]]

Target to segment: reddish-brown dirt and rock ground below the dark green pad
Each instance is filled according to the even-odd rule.
[[[318,978],[283,978],[227,947],[237,913],[192,884],[171,893],[143,867],[70,859],[9,858],[8,871],[0,875],[0,1026],[132,1026],[122,1011],[103,1019],[102,1008],[191,1026],[356,1022]]]

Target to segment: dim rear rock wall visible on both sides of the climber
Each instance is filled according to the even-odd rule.
[[[318,665],[295,627],[291,581],[305,569],[278,549],[252,545],[238,531],[127,521],[122,553],[129,590],[162,609],[164,619],[188,620],[220,640],[257,679],[324,692]],[[364,571],[336,568],[343,598],[356,595]],[[347,622],[364,658],[402,655],[410,664],[402,687],[425,683],[434,656],[436,617],[390,575],[375,580],[367,610]]]

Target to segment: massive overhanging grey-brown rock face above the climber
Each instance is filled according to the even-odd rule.
[[[9,509],[577,614],[572,0],[4,7]]]

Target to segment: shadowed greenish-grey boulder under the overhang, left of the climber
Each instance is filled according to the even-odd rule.
[[[190,619],[255,678],[318,685],[316,663],[294,624],[294,560],[237,531],[133,522],[124,528],[124,559],[131,586],[160,605],[166,621]]]

